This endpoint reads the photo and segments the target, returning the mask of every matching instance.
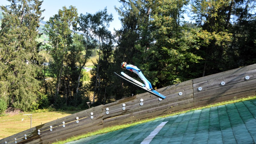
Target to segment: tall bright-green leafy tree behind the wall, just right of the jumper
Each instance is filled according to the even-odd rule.
[[[158,62],[154,62],[157,67],[149,66],[152,70],[158,71],[153,75],[158,81],[153,84],[162,87],[191,79],[192,76],[187,74],[190,65],[198,63],[202,58],[194,53],[198,49],[191,44],[196,39],[193,37],[192,29],[182,26],[185,13],[183,7],[188,5],[188,1],[151,1],[150,4],[152,13],[149,23],[152,41],[155,43],[152,47],[149,46],[148,55],[149,59]]]

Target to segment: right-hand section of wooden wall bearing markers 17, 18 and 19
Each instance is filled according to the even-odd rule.
[[[256,64],[193,79],[193,89],[195,107],[255,95]]]

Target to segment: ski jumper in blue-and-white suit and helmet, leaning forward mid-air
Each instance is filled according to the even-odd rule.
[[[148,90],[153,89],[151,83],[145,78],[145,76],[142,74],[141,70],[138,67],[131,64],[127,64],[126,62],[122,62],[121,67],[123,69],[130,70],[136,73],[139,76],[139,78],[145,83],[145,88],[147,88]]]

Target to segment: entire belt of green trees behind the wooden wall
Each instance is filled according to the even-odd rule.
[[[36,41],[42,1],[9,1],[1,7],[0,97],[25,111],[86,109],[92,93],[92,106],[141,93],[113,74],[123,61],[153,88],[256,63],[255,1],[121,0],[114,35],[106,8],[78,16],[76,7],[62,7],[44,23],[44,46]],[[89,75],[83,67],[92,55]]]

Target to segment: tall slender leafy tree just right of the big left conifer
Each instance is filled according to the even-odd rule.
[[[72,67],[67,67],[69,50],[72,48],[73,40],[72,40],[72,30],[76,29],[77,25],[77,9],[73,6],[69,8],[63,7],[63,10],[59,10],[58,14],[55,14],[53,17],[50,17],[49,21],[47,21],[45,25],[45,33],[49,36],[51,47],[48,46],[47,50],[50,55],[52,55],[53,61],[50,62],[50,70],[53,77],[56,80],[55,86],[55,94],[52,95],[52,102],[56,102],[57,99],[62,95],[63,90],[61,90],[62,84],[64,83],[64,95],[66,97],[66,103],[69,94],[67,94],[67,84],[66,80],[70,81],[70,78],[66,79],[64,77],[65,74],[69,73],[69,70],[74,70],[75,62],[73,61]],[[76,55],[75,55],[76,56]],[[70,63],[71,64],[71,63]],[[66,73],[65,73],[66,72]]]

